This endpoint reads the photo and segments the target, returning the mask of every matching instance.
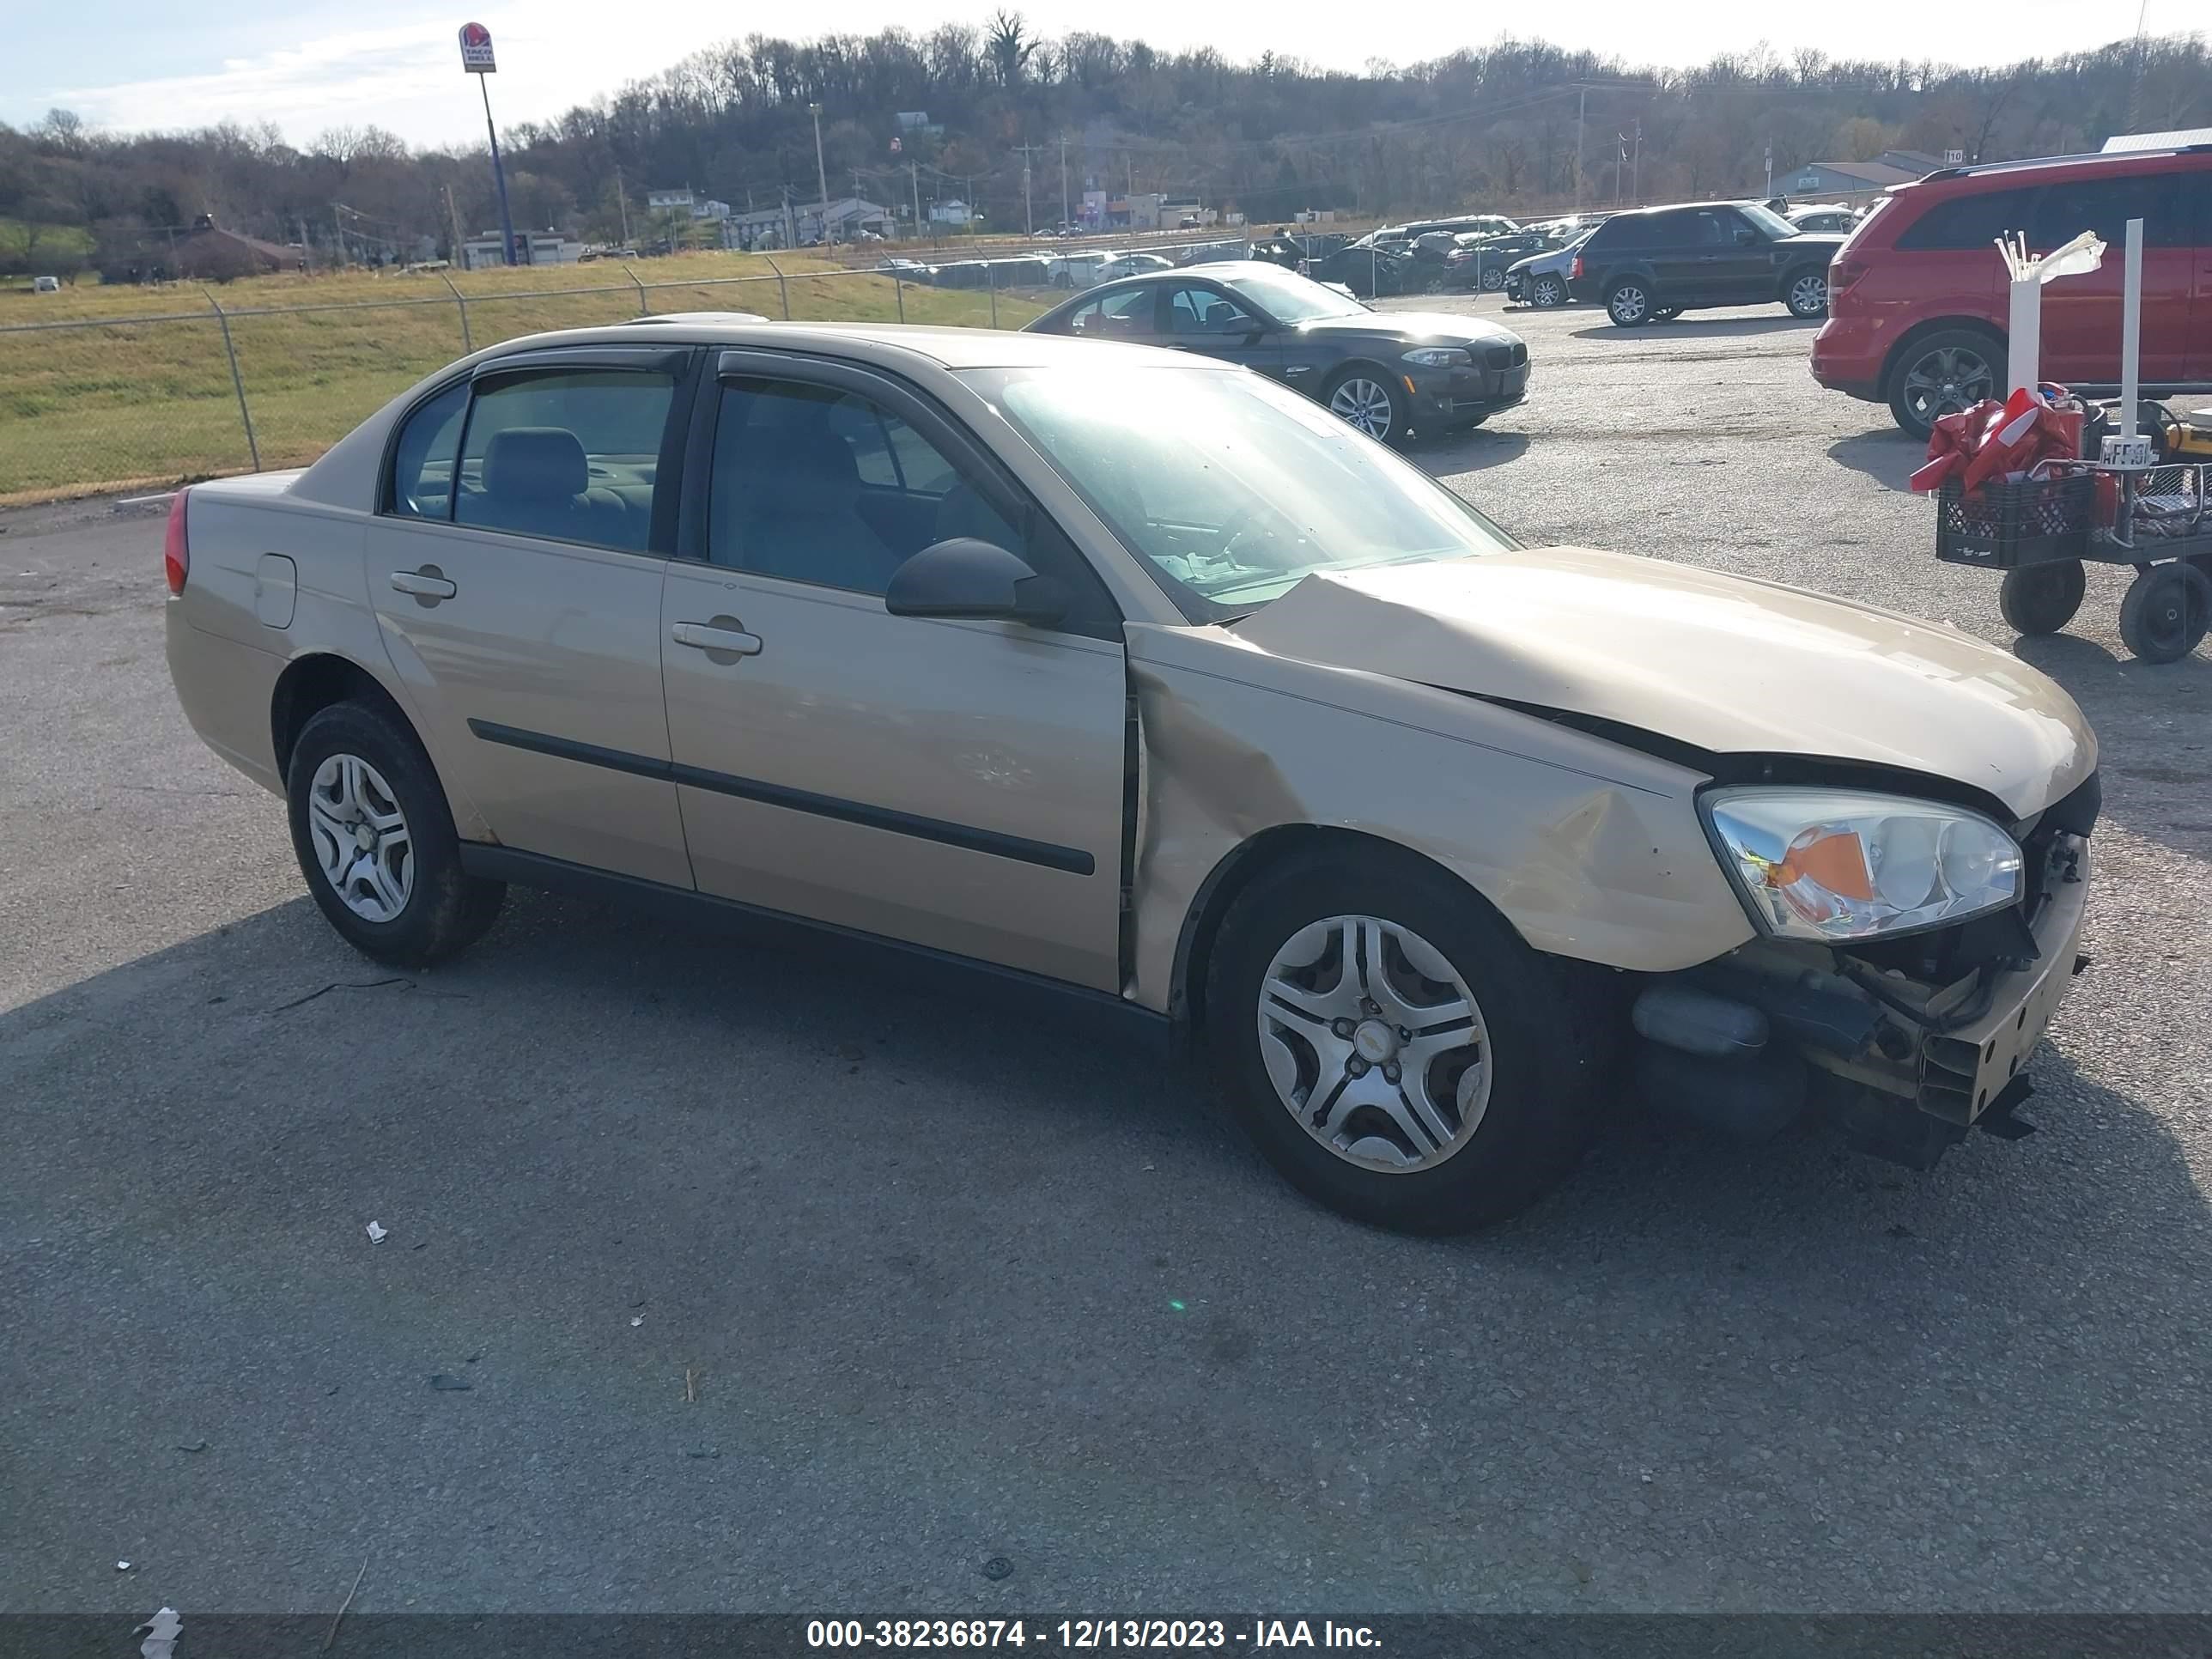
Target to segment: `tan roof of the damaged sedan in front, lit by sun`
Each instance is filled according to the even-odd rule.
[[[1141,276],[1130,281],[1146,281]],[[1088,292],[1099,292],[1097,288]],[[1130,363],[1197,367],[1210,358],[1164,354],[1144,345],[1113,341],[1075,341],[1057,334],[1020,334],[995,327],[927,327],[920,323],[741,323],[721,314],[670,319],[653,330],[655,341],[672,345],[750,345],[772,352],[814,352],[821,356],[863,358],[883,367],[929,363],[940,369],[1040,369],[1099,365],[1099,352],[1126,354]],[[551,334],[524,334],[504,341],[482,356],[509,352],[542,352],[549,345],[637,345],[635,323],[608,327],[575,327]]]

